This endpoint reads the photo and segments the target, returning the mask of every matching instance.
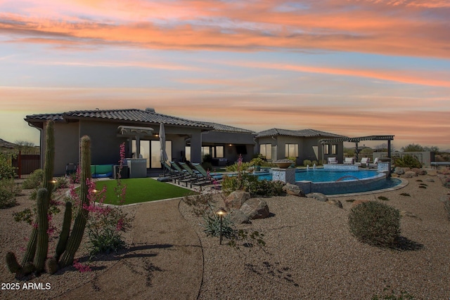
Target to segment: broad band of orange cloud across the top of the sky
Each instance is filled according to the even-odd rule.
[[[114,6],[107,2],[72,1],[75,13],[84,15],[86,8],[92,8],[92,13],[98,14],[86,19],[67,13],[49,19],[4,13],[0,31],[54,39],[60,44],[75,41],[80,46],[106,43],[231,51],[323,49],[450,57],[449,23],[437,8],[432,9],[447,8],[442,1],[359,1],[352,6],[336,0],[318,1],[293,11],[280,11],[282,3],[278,1],[119,1]],[[33,8],[28,11],[32,15]]]

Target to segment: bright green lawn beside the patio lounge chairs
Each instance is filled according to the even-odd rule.
[[[122,184],[127,185],[125,204],[184,197],[185,195],[193,193],[192,190],[156,181],[152,178],[122,179]],[[114,191],[114,188],[117,186],[117,181],[108,180],[96,182],[97,190],[102,190],[103,186],[106,186],[105,203],[114,203],[115,198],[117,197]]]

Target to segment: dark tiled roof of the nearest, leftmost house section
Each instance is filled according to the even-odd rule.
[[[42,114],[42,115],[28,115],[25,120],[27,122],[36,122],[39,120],[64,121],[67,119],[111,119],[117,121],[130,121],[130,122],[146,122],[153,124],[179,125],[179,126],[193,126],[204,129],[211,129],[211,127],[203,122],[191,121],[188,119],[182,119],[179,117],[172,117],[169,115],[158,114],[154,110],[75,110],[71,112],[63,112],[60,114]]]

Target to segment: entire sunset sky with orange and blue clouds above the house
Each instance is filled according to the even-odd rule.
[[[0,0],[0,138],[154,107],[450,149],[450,1]]]

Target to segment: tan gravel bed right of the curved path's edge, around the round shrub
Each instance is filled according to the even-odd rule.
[[[448,190],[439,179],[419,178],[430,176],[411,178],[405,188],[388,193],[333,198],[343,209],[310,198],[267,198],[273,216],[239,226],[263,233],[264,249],[219,245],[217,238],[205,237],[201,219],[181,206],[203,245],[199,299],[371,299],[401,292],[414,299],[450,299],[450,222],[439,201]],[[401,219],[408,246],[402,251],[363,244],[349,233],[347,200],[381,201],[380,195],[409,212]]]

